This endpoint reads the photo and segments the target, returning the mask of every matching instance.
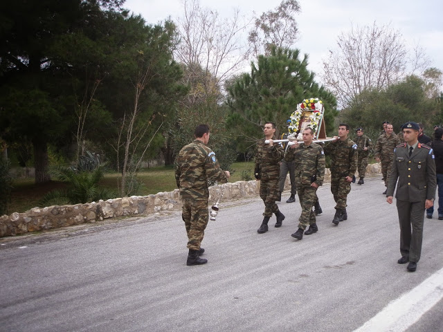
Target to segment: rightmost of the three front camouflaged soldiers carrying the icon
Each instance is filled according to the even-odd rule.
[[[347,220],[346,200],[351,192],[351,182],[357,168],[357,145],[350,140],[349,125],[341,123],[338,126],[338,136],[325,146],[326,156],[331,156],[331,192],[336,203],[332,223],[338,225]]]

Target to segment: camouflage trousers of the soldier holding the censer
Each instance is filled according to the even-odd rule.
[[[199,250],[209,221],[208,200],[183,199],[182,203],[181,219],[188,234],[188,248]]]

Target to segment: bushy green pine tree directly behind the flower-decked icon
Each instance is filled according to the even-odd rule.
[[[228,124],[235,128],[242,149],[262,137],[266,121],[277,124],[280,132],[286,120],[305,98],[320,98],[325,105],[327,130],[334,126],[336,100],[314,81],[307,69],[307,55],[300,59],[299,50],[271,47],[268,56],[259,55],[245,73],[229,87]]]

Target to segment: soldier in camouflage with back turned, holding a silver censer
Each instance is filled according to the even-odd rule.
[[[215,153],[206,145],[209,141],[209,127],[199,124],[194,132],[195,140],[183,147],[176,159],[175,180],[180,188],[182,219],[188,234],[188,261],[186,265],[205,264],[201,259],[204,248],[201,241],[208,225],[208,180],[228,182],[230,173],[220,169]]]

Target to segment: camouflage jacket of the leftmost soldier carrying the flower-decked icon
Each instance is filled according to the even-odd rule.
[[[255,173],[260,174],[262,180],[271,180],[280,177],[280,161],[284,157],[282,145],[274,143],[272,147],[264,144],[264,139],[257,142],[255,147]]]

